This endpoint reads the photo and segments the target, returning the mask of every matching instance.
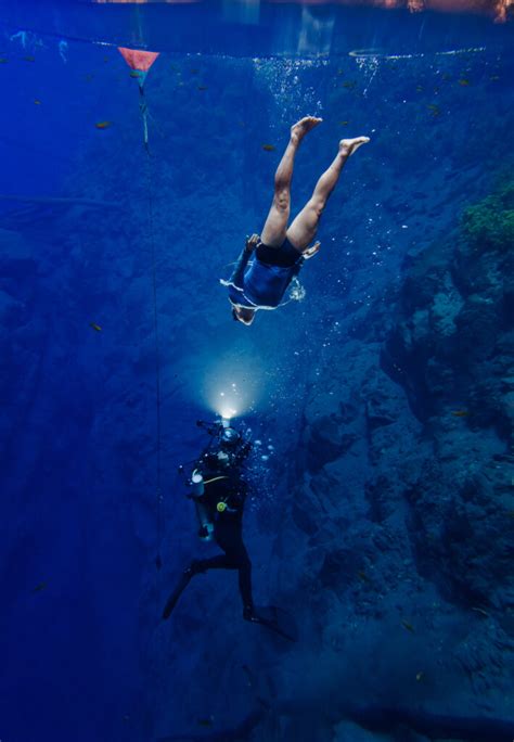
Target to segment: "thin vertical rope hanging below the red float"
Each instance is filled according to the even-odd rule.
[[[163,490],[162,490],[162,445],[160,445],[160,351],[159,351],[159,331],[157,312],[157,269],[155,261],[155,230],[154,230],[154,205],[152,193],[152,155],[149,149],[149,131],[146,125],[146,103],[144,101],[143,89],[140,88],[141,101],[140,111],[143,117],[144,149],[146,158],[146,192],[149,196],[149,227],[150,227],[150,254],[152,263],[152,293],[154,308],[154,337],[155,337],[155,392],[156,392],[156,504],[157,504],[157,556],[156,565],[160,568],[160,543],[163,541]]]

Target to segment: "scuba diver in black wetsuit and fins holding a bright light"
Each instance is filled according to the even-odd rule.
[[[196,423],[211,436],[210,443],[193,469],[187,485],[198,520],[198,536],[203,541],[216,541],[222,554],[193,560],[183,571],[163,611],[167,619],[191,579],[208,570],[237,570],[239,588],[243,601],[243,618],[262,624],[281,636],[296,641],[291,631],[280,626],[279,610],[256,609],[252,594],[252,562],[243,541],[243,510],[248,484],[243,476],[243,463],[252,450],[252,443],[228,421]],[[179,468],[183,474],[183,466]]]

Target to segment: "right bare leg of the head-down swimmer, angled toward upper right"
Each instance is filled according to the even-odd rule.
[[[323,209],[339,179],[346,161],[359,146],[369,141],[368,137],[340,140],[339,151],[334,162],[318,180],[312,196],[287,229],[287,239],[299,253],[303,253],[314,239]],[[262,242],[265,242],[264,239]]]

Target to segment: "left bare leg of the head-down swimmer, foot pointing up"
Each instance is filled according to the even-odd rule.
[[[274,194],[260,239],[269,247],[280,247],[285,240],[291,210],[291,181],[296,151],[305,135],[321,124],[321,118],[305,116],[291,127],[291,139],[274,174]]]

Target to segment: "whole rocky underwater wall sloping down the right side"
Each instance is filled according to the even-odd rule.
[[[465,217],[386,300],[343,307],[309,380],[278,584],[330,698],[510,715],[509,261]]]

